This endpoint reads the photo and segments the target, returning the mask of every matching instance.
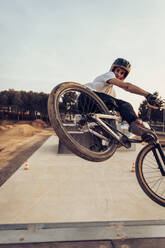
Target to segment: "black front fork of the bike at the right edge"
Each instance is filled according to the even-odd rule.
[[[156,162],[158,164],[158,168],[160,169],[162,176],[165,176],[165,155],[164,155],[161,145],[159,143],[156,143],[152,151],[153,151]]]

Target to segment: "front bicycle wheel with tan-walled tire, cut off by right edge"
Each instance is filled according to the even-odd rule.
[[[136,177],[142,190],[151,200],[165,207],[165,176],[162,176],[154,152],[154,144],[145,146],[136,159]]]

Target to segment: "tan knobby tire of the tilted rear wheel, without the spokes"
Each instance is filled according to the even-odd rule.
[[[74,82],[64,82],[56,86],[49,95],[49,98],[48,98],[49,119],[57,136],[60,138],[61,142],[65,144],[65,146],[69,150],[71,150],[76,155],[82,157],[83,159],[93,161],[93,162],[101,162],[101,161],[107,160],[114,154],[117,148],[117,144],[113,144],[112,149],[110,151],[107,151],[107,153],[101,154],[99,152],[99,154],[97,153],[93,154],[93,153],[85,151],[85,149],[82,146],[81,147],[77,146],[77,144],[75,144],[74,139],[72,139],[71,136],[67,135],[66,132],[64,132],[63,128],[61,127],[61,121],[60,121],[60,116],[58,113],[59,110],[58,110],[58,104],[57,104],[58,96],[65,89],[70,89],[70,90],[78,89],[79,90],[80,88],[84,92],[88,91],[90,96],[94,98],[97,101],[97,103],[99,103],[99,105],[101,106],[105,114],[109,113],[108,108],[105,106],[102,100],[97,95],[95,95],[91,90],[88,90],[85,86],[74,83]]]

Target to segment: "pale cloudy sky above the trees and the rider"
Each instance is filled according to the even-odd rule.
[[[85,84],[122,57],[126,81],[165,98],[164,0],[0,0],[0,91]],[[135,110],[144,100],[115,87]]]

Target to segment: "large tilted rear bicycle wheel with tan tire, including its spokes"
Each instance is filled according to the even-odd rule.
[[[83,85],[64,82],[49,95],[49,119],[60,141],[76,155],[100,162],[113,155],[118,143],[91,118],[93,113],[109,114],[109,110]],[[114,120],[108,125],[114,127]]]

